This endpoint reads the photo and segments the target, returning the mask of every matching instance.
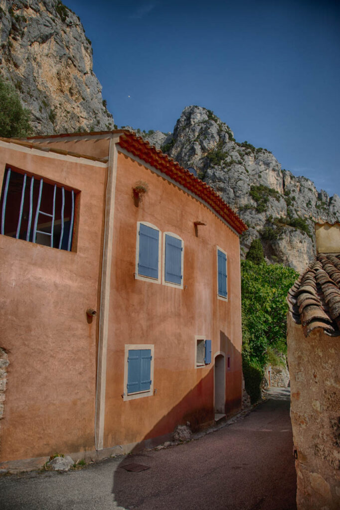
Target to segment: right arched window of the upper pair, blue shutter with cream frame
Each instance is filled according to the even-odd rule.
[[[164,234],[163,283],[183,289],[183,241],[176,234]]]

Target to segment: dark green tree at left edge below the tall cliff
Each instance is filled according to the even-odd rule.
[[[0,80],[0,136],[14,138],[31,133],[29,110],[22,108],[15,88]]]

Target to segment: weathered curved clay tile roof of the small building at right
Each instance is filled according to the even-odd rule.
[[[340,254],[320,253],[288,292],[289,312],[305,337],[321,328],[340,335]]]

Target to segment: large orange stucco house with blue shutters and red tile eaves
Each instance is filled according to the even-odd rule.
[[[246,225],[220,196],[123,130],[1,139],[0,180],[2,467],[240,409]]]

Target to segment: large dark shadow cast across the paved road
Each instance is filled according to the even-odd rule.
[[[254,412],[198,441],[125,457],[115,501],[158,510],[295,510],[296,472],[289,388],[271,388]],[[148,469],[126,471],[127,464]]]

